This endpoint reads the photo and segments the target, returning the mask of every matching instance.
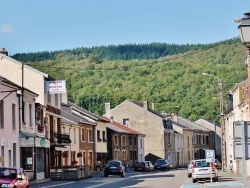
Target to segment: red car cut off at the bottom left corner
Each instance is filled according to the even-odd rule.
[[[29,187],[29,178],[22,168],[0,167],[0,187]]]

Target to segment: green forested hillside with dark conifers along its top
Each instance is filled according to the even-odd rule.
[[[124,51],[121,47],[96,47],[88,53],[79,48],[16,54],[13,58],[66,80],[69,100],[99,115],[104,113],[105,102],[114,107],[133,99],[155,103],[158,112],[178,111],[190,120],[204,117],[218,122],[218,80],[202,73],[222,80],[225,101],[229,89],[247,77],[246,52],[239,39],[183,48],[160,43],[125,45]]]

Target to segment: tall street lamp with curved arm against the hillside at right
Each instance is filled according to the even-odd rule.
[[[220,125],[221,125],[221,162],[222,162],[222,170],[226,169],[227,158],[226,158],[226,131],[225,131],[225,122],[224,122],[224,102],[223,102],[223,87],[222,80],[215,75],[202,73],[203,76],[212,76],[218,80],[219,85],[219,97],[220,97]],[[215,130],[216,131],[216,130]],[[215,142],[216,143],[216,142]]]

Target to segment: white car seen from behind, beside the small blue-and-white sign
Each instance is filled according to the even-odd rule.
[[[206,162],[206,159],[194,160],[192,164],[192,180],[193,183],[200,179],[210,179],[212,176],[213,181],[218,181],[217,168],[214,163]]]

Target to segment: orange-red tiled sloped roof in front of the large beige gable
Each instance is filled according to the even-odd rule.
[[[107,117],[102,116],[102,118],[109,122],[107,124],[107,127],[116,131],[116,132],[142,135],[142,133],[139,133],[138,131],[133,130],[133,129],[131,129],[125,125],[122,125],[116,121],[112,121],[111,119],[109,119]]]

